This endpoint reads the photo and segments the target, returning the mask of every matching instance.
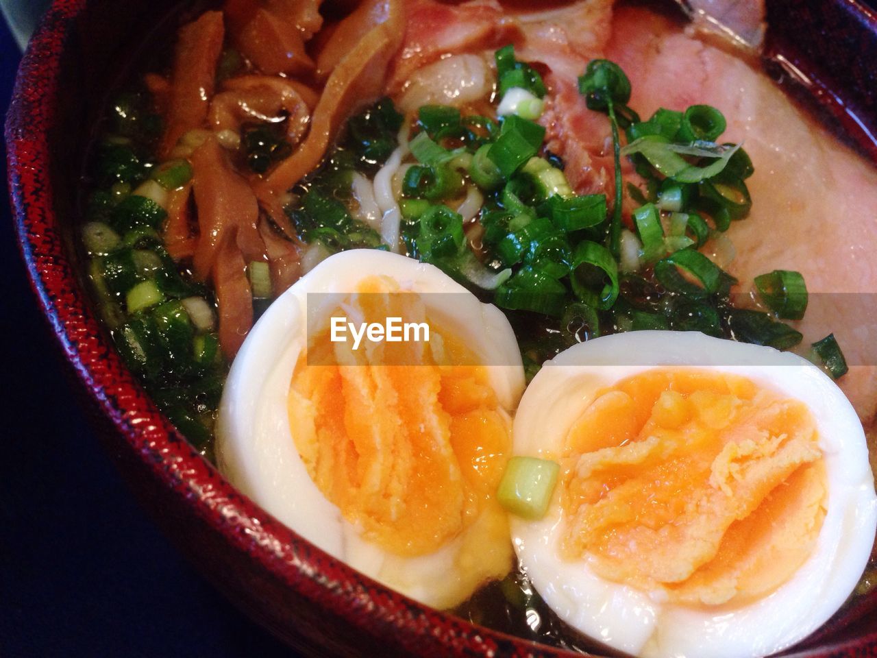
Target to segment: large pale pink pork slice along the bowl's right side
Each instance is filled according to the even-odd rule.
[[[741,290],[774,269],[799,270],[811,294],[802,347],[833,332],[851,363],[841,387],[866,423],[877,411],[877,168],[806,116],[765,74],[650,11],[617,8],[606,56],[631,78],[631,107],[711,104],[723,139],[743,142],[755,174],[752,213],[728,235]]]

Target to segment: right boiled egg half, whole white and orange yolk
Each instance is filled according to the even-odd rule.
[[[571,347],[527,388],[514,452],[560,464],[545,516],[511,522],[521,567],[627,654],[773,654],[838,610],[873,546],[859,418],[770,347],[647,331]]]

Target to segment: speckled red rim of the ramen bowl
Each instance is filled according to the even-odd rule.
[[[873,20],[873,14],[848,0]],[[320,608],[374,639],[422,655],[581,656],[558,647],[475,626],[404,597],[311,545],[239,493],[196,452],[146,396],[96,318],[89,291],[75,275],[53,207],[49,128],[57,115],[68,36],[89,0],[54,0],[18,68],[5,123],[8,184],[32,292],[75,382],[109,418],[114,433],[176,502],[206,521],[245,560]],[[324,565],[331,564],[331,577]],[[367,624],[364,623],[367,619]],[[877,648],[877,632],[810,648],[795,656],[828,656]]]

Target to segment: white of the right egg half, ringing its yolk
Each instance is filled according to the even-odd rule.
[[[597,390],[659,366],[705,367],[743,375],[809,407],[824,451],[827,512],[816,547],[787,583],[748,605],[686,608],[604,580],[587,561],[561,559],[560,487],[538,521],[513,518],[518,560],[561,619],[644,658],[743,658],[773,654],[831,617],[865,569],[877,527],[877,497],[865,434],[852,405],[809,361],[771,347],[702,333],[645,331],[589,340],[548,361],[518,407],[514,454],[558,455]]]

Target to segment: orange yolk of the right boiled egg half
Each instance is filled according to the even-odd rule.
[[[825,516],[809,410],[737,375],[656,369],[598,392],[563,466],[566,556],[681,604],[766,596]]]

